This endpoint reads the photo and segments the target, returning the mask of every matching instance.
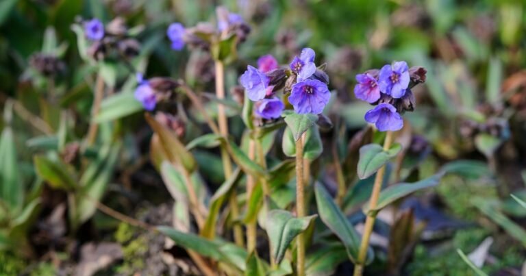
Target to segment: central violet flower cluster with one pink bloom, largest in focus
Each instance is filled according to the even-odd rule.
[[[246,95],[255,101],[255,114],[260,118],[274,119],[281,116],[285,104],[275,96],[284,88],[290,92],[288,102],[297,114],[321,114],[331,94],[327,84],[329,77],[316,68],[314,50],[305,48],[289,64],[288,74],[279,68],[272,55],[258,59],[258,68],[251,65],[240,77]]]

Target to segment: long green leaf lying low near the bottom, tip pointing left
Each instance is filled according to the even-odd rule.
[[[245,260],[249,254],[235,244],[220,240],[207,240],[195,234],[183,233],[166,226],[159,226],[157,229],[174,240],[177,245],[195,251],[199,255],[224,262],[239,271],[245,271],[247,268]]]

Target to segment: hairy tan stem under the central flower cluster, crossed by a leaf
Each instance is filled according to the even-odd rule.
[[[296,141],[296,213],[297,217],[305,216],[305,172],[303,170],[303,139],[305,134]],[[297,237],[296,273],[305,275],[305,235],[300,233]]]

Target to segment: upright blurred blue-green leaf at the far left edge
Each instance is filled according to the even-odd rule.
[[[23,186],[16,158],[16,146],[11,127],[6,126],[0,138],[0,199],[12,208],[23,205]]]

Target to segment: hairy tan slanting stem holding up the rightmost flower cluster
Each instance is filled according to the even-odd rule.
[[[391,147],[392,143],[392,132],[388,131],[386,140],[384,140],[384,151],[387,151]],[[381,166],[376,173],[375,183],[373,184],[373,192],[371,193],[371,199],[369,199],[369,210],[374,209],[378,202],[380,195],[381,184],[384,180],[384,174],[386,172],[386,166]],[[360,251],[358,251],[358,261],[354,267],[354,276],[362,276],[365,266],[365,259],[367,257],[367,249],[369,247],[369,240],[373,233],[373,226],[375,225],[375,214],[367,214],[364,226],[364,234],[362,237],[362,243],[360,244]]]

